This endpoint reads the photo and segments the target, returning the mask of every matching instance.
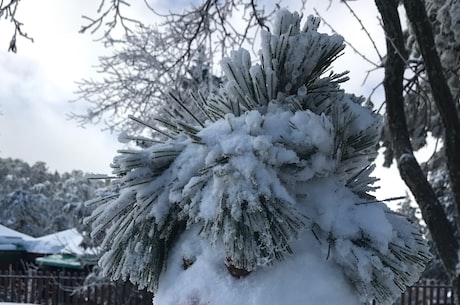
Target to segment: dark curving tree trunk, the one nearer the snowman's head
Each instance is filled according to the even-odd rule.
[[[407,0],[406,2],[411,1],[418,0]],[[403,74],[407,54],[404,48],[401,21],[397,10],[398,1],[375,0],[375,3],[382,16],[386,33],[387,59],[383,83],[388,129],[399,173],[421,209],[423,219],[432,235],[439,256],[454,285],[454,294],[458,295],[460,289],[457,289],[457,286],[460,288],[460,281],[456,276],[456,266],[458,264],[457,251],[459,245],[455,238],[455,230],[449,223],[443,206],[415,159],[409,140],[403,98]],[[434,47],[433,50],[436,52]],[[460,304],[458,300],[458,298],[455,299],[456,304]]]

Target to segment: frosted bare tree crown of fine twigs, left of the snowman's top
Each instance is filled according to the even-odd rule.
[[[111,1],[110,6],[115,2]],[[114,12],[114,9],[102,10],[103,4],[99,11],[104,13],[99,21],[92,23],[92,30],[97,30],[102,20],[111,16],[107,12]],[[90,103],[86,113],[71,114],[80,124],[104,122],[110,130],[122,126],[130,129],[136,124],[126,120],[126,114],[148,121],[168,105],[167,91],[185,92],[191,89],[190,81],[197,77],[198,82],[208,82],[200,86],[212,88],[216,85],[212,76],[216,54],[227,56],[235,46],[252,44],[254,33],[266,27],[266,20],[276,9],[266,12],[255,0],[203,0],[182,12],[162,14],[148,6],[147,1],[145,4],[161,18],[161,23],[136,24],[120,39],[104,37],[103,42],[113,46],[114,54],[100,59],[98,72],[102,80],[86,79],[78,83],[79,100]],[[232,14],[236,13],[245,20],[243,29],[232,24]],[[198,66],[205,70],[198,74],[207,75],[196,74],[197,59],[201,61]],[[184,79],[184,75],[189,79]],[[184,88],[185,83],[189,87]]]

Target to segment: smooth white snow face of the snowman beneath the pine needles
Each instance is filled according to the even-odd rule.
[[[155,304],[359,304],[340,268],[326,259],[311,234],[293,243],[295,255],[240,279],[227,272],[223,253],[197,234],[190,230],[178,241]],[[185,271],[184,253],[195,258]]]

